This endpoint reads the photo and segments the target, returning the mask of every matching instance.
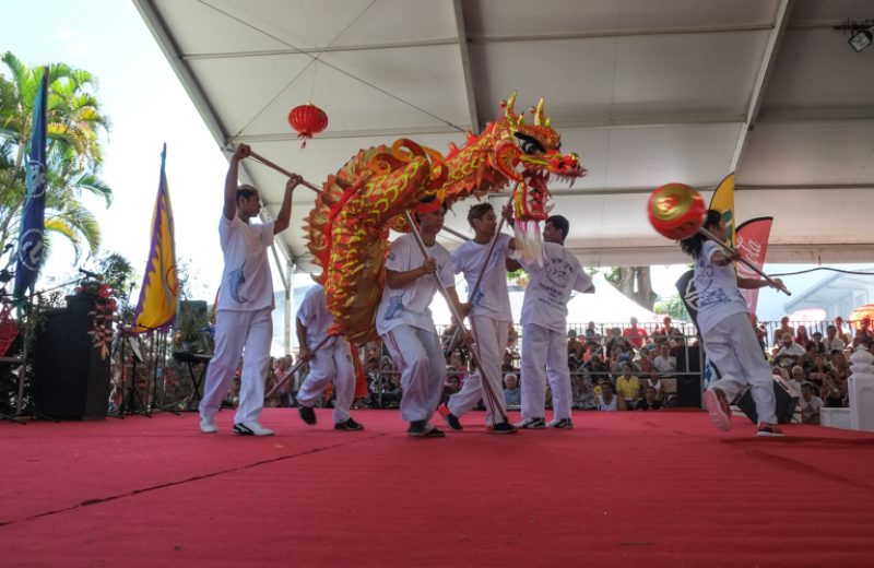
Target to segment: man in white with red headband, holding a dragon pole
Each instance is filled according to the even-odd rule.
[[[376,329],[401,371],[401,416],[410,423],[406,434],[414,438],[441,438],[444,433],[430,423],[446,381],[440,336],[428,309],[438,288],[435,277],[446,286],[462,318],[469,307],[456,294],[452,258],[437,244],[446,214],[444,203],[434,199],[415,211],[428,258],[423,257],[415,235],[403,235],[391,244]]]

